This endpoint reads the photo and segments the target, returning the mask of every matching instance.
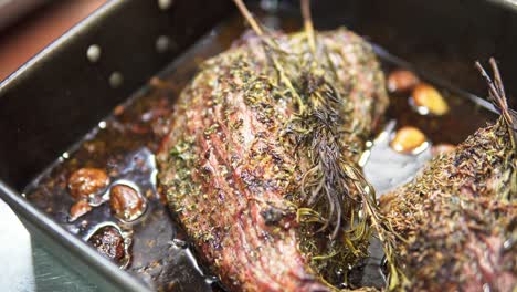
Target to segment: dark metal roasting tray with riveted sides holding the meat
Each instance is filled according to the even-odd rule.
[[[266,14],[298,14],[297,1],[251,2]],[[314,2],[316,28],[347,25],[376,43],[378,53],[440,76],[437,82],[482,105],[476,95],[485,90],[474,60],[494,55],[507,91],[517,92],[514,1]],[[234,13],[229,0],[109,1],[0,84],[0,197],[49,251],[102,290],[148,286],[68,233],[21,192],[117,104]],[[97,49],[98,59],[92,53]],[[510,103],[515,107],[516,98]]]

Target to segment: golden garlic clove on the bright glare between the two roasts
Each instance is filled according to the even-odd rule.
[[[428,138],[418,128],[404,126],[397,131],[393,139],[391,140],[391,148],[395,152],[404,154],[416,154],[425,149]]]

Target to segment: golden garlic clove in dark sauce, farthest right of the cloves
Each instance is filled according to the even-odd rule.
[[[421,83],[413,88],[413,102],[424,114],[444,115],[449,112],[449,105],[442,94],[433,86]]]

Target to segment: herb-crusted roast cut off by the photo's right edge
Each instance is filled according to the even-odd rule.
[[[515,112],[495,61],[490,96],[502,116],[455,150],[432,160],[411,182],[384,195],[398,232],[395,253],[411,291],[515,291],[517,169]],[[481,69],[481,66],[479,66]]]

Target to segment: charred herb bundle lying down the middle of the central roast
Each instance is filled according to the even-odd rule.
[[[390,269],[389,289],[404,282],[393,257],[394,232],[379,212],[376,194],[363,178],[355,157],[361,146],[350,143],[363,133],[351,117],[348,88],[338,88],[336,67],[329,58],[331,48],[318,41],[310,20],[309,1],[302,1],[305,32],[299,45],[308,46],[306,56],[281,50],[274,36],[261,28],[242,1],[235,0],[252,29],[262,38],[275,87],[296,102],[297,112],[284,128],[285,143],[295,157],[309,157],[297,185],[297,219],[304,225],[302,249],[313,255],[316,270],[331,279],[329,267],[354,263],[366,257],[372,231],[383,243]],[[325,52],[325,60],[316,53]],[[328,73],[330,72],[330,74]],[[371,133],[370,133],[371,134]],[[356,137],[358,144],[368,137]],[[326,239],[316,237],[326,234]],[[325,254],[321,254],[325,252]],[[321,261],[325,260],[325,261]]]

